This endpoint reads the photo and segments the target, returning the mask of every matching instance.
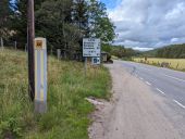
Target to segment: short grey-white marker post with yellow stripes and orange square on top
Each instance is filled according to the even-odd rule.
[[[35,112],[47,111],[47,42],[35,38]]]

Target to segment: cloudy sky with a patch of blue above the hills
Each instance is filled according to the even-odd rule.
[[[185,0],[101,0],[115,25],[115,45],[151,50],[185,42]]]

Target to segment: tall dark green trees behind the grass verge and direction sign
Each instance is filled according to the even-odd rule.
[[[27,42],[27,0],[0,1],[0,37]],[[45,37],[48,50],[61,49],[66,56],[82,55],[82,39],[100,38],[110,43],[114,25],[99,0],[35,0],[36,37]]]

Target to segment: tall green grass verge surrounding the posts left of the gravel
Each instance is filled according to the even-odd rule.
[[[88,139],[88,114],[94,105],[86,97],[108,99],[111,77],[104,67],[48,61],[48,112],[34,114],[27,92],[27,60],[21,51],[0,51],[0,138]]]

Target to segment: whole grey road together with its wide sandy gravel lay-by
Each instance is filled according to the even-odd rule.
[[[113,97],[97,105],[90,139],[185,139],[185,74],[133,62],[106,65]]]

